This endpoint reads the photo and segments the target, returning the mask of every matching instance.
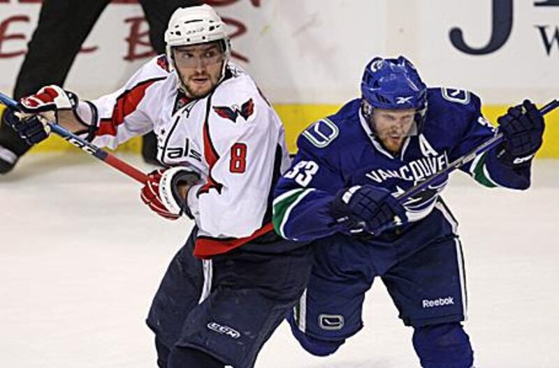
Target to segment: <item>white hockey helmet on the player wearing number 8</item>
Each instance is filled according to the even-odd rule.
[[[198,45],[213,41],[223,41],[222,50],[227,60],[231,55],[231,43],[225,23],[214,8],[208,4],[178,8],[171,15],[165,31],[166,52],[170,66],[173,69],[175,67],[171,53],[174,46]]]

